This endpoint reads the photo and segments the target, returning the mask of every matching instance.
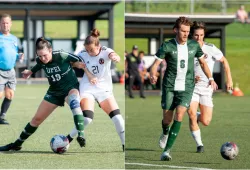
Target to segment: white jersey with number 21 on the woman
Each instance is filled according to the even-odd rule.
[[[80,82],[80,90],[105,90],[112,91],[112,77],[110,71],[111,59],[109,54],[114,52],[112,49],[102,46],[101,52],[97,56],[90,56],[86,50],[82,50],[78,56],[83,59],[88,70],[98,78],[96,85],[90,84],[88,77],[84,74]]]

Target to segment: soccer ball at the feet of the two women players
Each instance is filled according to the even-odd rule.
[[[64,135],[55,135],[50,141],[50,147],[53,152],[62,154],[69,149],[69,140]]]

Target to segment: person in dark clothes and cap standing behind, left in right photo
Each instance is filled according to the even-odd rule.
[[[128,93],[130,98],[134,98],[132,88],[134,85],[134,82],[136,81],[140,88],[140,97],[145,98],[144,95],[144,86],[141,82],[140,73],[138,70],[138,65],[141,63],[141,60],[138,56],[138,46],[134,45],[132,48],[132,52],[126,56],[126,70],[128,72],[129,76],[129,86],[128,86]]]

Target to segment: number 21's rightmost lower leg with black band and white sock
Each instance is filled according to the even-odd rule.
[[[113,110],[109,113],[110,119],[113,121],[115,125],[115,129],[117,134],[120,137],[122,143],[122,150],[124,151],[125,147],[125,128],[124,128],[124,119],[120,114],[120,109]]]

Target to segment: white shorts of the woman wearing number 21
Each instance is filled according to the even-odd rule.
[[[87,99],[97,100],[98,103],[103,102],[104,100],[108,99],[111,96],[113,96],[112,91],[105,91],[105,90],[96,92],[90,92],[90,91],[80,92],[81,99],[87,98]]]

